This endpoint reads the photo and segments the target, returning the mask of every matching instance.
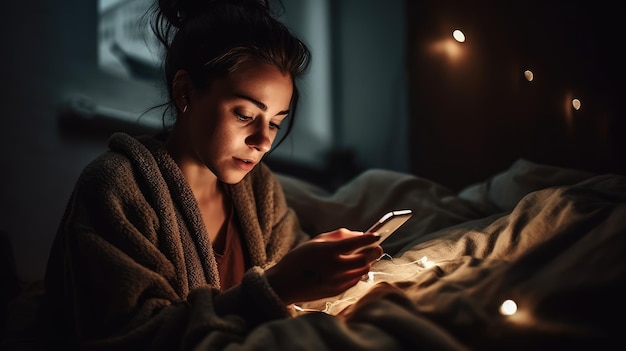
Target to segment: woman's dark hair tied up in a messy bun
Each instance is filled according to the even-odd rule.
[[[177,71],[188,72],[195,88],[207,88],[241,63],[254,60],[276,67],[293,80],[289,134],[295,120],[299,92],[296,80],[308,69],[307,46],[274,18],[267,1],[259,0],[157,0],[150,23],[164,46],[163,68],[170,101],[175,111],[172,81]],[[166,110],[167,110],[166,109]]]

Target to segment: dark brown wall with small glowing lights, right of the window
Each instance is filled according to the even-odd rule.
[[[609,1],[407,1],[411,172],[459,189],[514,160],[624,172],[622,11]],[[454,29],[453,60],[433,49]],[[531,69],[532,82],[523,72]],[[582,101],[575,111],[567,102]]]

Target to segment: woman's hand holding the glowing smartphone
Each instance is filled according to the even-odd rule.
[[[356,285],[382,256],[380,245],[371,245],[379,238],[345,228],[320,234],[287,253],[266,277],[286,304],[338,295]],[[357,249],[362,250],[354,253]]]

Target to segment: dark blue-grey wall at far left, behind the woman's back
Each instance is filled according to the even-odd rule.
[[[95,0],[9,1],[0,11],[0,231],[22,280],[41,277],[73,184],[109,134],[68,134],[58,111],[76,95],[129,111],[155,100],[153,89],[98,70],[96,15]]]

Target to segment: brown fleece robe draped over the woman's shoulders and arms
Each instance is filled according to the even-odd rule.
[[[220,349],[290,316],[264,270],[308,237],[264,164],[227,186],[249,269],[220,292],[195,198],[164,144],[117,133],[109,148],[80,175],[52,247],[49,346]]]

